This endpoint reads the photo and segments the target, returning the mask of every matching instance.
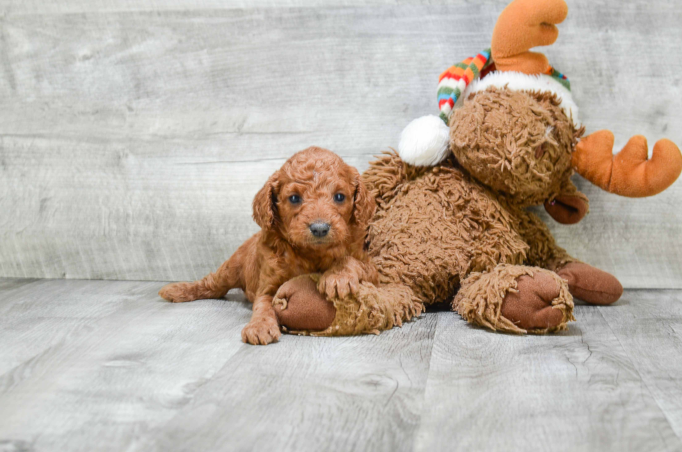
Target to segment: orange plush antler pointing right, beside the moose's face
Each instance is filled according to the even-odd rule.
[[[610,193],[631,198],[653,196],[667,189],[682,173],[682,154],[670,140],[661,139],[649,146],[642,135],[635,135],[623,150],[613,155],[614,137],[609,130],[594,132],[580,140],[572,165],[580,176]]]

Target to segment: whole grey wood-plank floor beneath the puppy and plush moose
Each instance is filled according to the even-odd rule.
[[[0,451],[680,451],[682,290],[517,337],[426,313],[256,347],[227,300],[0,279]]]

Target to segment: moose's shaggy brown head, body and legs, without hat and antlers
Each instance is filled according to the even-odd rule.
[[[438,166],[411,166],[395,153],[370,164],[363,180],[378,209],[367,239],[379,285],[363,284],[344,300],[331,297],[333,324],[315,334],[376,332],[438,302],[452,302],[483,327],[539,334],[574,320],[570,291],[586,281],[590,288],[580,293],[587,302],[619,297],[613,276],[578,263],[526,210],[570,198],[587,211],[587,198],[570,180],[582,129],[554,95],[476,93],[454,111],[450,132],[453,155]],[[568,263],[573,283],[556,273]],[[399,321],[391,321],[395,313]]]

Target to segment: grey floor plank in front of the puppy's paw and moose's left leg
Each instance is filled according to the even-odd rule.
[[[435,321],[243,348],[141,450],[411,451]]]

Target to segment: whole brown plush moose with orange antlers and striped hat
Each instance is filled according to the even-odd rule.
[[[582,136],[568,79],[529,51],[553,44],[567,13],[564,0],[514,0],[491,49],[443,72],[441,115],[414,120],[398,153],[363,175],[377,205],[367,252],[379,284],[326,299],[319,275],[292,279],[273,299],[284,329],[376,333],[451,302],[473,324],[541,334],[575,320],[573,297],[619,299],[614,276],[569,256],[527,208],[544,204],[553,219],[574,224],[588,211],[574,171],[614,194],[651,196],[678,178],[682,155],[662,139],[647,159],[641,136],[613,155],[608,130]]]

